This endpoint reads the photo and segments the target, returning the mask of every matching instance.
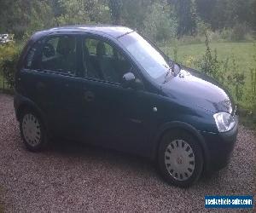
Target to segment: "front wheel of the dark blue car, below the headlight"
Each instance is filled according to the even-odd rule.
[[[161,175],[177,187],[189,187],[201,176],[203,156],[199,143],[185,131],[162,136],[158,153]]]

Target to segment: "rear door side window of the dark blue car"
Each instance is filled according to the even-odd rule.
[[[75,74],[77,70],[77,47],[74,36],[50,37],[41,53],[41,68],[44,70]]]

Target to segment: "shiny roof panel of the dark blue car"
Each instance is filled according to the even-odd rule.
[[[39,37],[50,34],[53,32],[91,32],[95,34],[105,34],[114,38],[121,37],[127,33],[133,32],[130,28],[126,26],[84,26],[84,25],[78,25],[78,26],[61,26],[61,27],[55,27],[51,28],[49,30],[45,30],[42,32],[38,32],[35,34],[40,35]],[[37,36],[36,36],[37,37]]]

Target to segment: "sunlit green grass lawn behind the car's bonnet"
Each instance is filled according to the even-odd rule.
[[[218,59],[226,60],[228,57],[234,57],[239,72],[244,72],[246,82],[251,78],[250,68],[256,67],[253,61],[253,54],[256,54],[256,46],[253,43],[210,43],[212,51],[217,50]],[[173,57],[172,44],[162,47],[163,51]],[[192,61],[201,59],[206,52],[205,43],[177,45],[177,60],[185,66],[194,66]],[[193,67],[195,68],[195,67]]]

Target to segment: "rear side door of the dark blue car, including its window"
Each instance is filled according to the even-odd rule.
[[[79,138],[78,39],[72,33],[57,33],[40,43],[37,54],[31,55],[34,60],[28,66],[32,68],[26,69],[26,92],[44,112],[55,135]]]

